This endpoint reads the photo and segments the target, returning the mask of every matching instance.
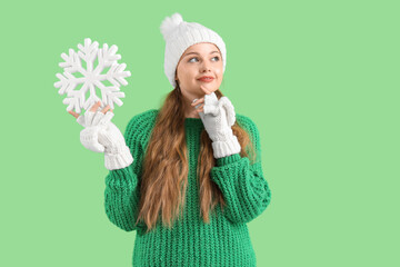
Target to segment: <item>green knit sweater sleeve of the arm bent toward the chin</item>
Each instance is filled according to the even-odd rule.
[[[256,149],[256,160],[239,154],[216,160],[211,179],[219,186],[226,200],[224,216],[232,222],[249,222],[258,217],[271,201],[271,190],[263,177],[261,166],[260,135],[256,123],[242,117],[240,123],[249,134]]]

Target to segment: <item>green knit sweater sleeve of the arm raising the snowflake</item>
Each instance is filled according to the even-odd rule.
[[[138,125],[133,117],[124,132],[124,139],[130,148],[133,162],[126,168],[110,170],[106,177],[104,207],[107,217],[112,224],[126,231],[144,229],[146,227],[142,221],[136,225],[140,199],[138,177],[140,177],[143,157]]]

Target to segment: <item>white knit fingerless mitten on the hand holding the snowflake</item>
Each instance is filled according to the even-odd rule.
[[[80,132],[81,144],[94,152],[104,152],[107,169],[124,168],[133,162],[133,157],[121,131],[111,122],[114,113],[104,115],[100,110],[99,107],[97,112],[88,110],[78,117],[78,123],[84,127]]]

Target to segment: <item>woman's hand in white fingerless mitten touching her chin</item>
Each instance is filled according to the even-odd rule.
[[[206,96],[193,101],[191,105],[196,106],[204,128],[212,140],[214,158],[240,152],[240,144],[232,131],[232,126],[236,121],[233,105],[227,97],[218,99],[214,92],[210,92],[202,86],[200,88],[206,92]]]

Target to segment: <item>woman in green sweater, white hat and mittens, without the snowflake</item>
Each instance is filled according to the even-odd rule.
[[[137,230],[139,266],[256,266],[247,222],[269,205],[259,131],[219,87],[226,47],[212,30],[166,18],[164,71],[174,88],[122,136],[100,102],[79,116],[82,145],[104,152],[106,212]]]

